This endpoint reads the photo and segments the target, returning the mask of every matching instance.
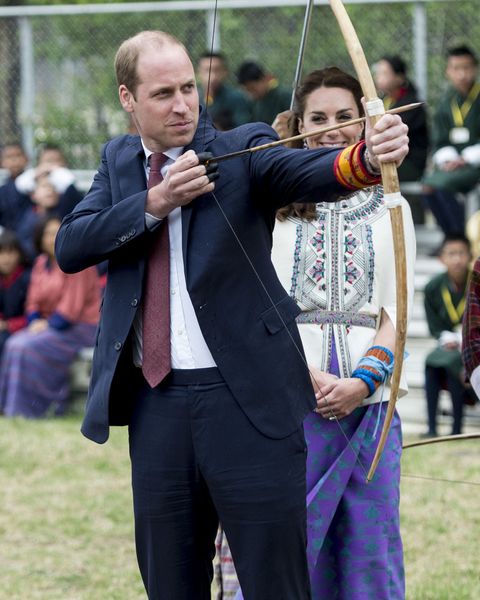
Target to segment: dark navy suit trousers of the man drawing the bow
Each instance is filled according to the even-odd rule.
[[[210,599],[220,520],[245,600],[309,600],[303,429],[262,435],[217,369],[140,388],[129,435],[149,599]]]

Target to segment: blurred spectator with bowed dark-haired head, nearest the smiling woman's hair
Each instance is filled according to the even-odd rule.
[[[279,85],[278,79],[257,63],[242,63],[237,70],[237,81],[252,100],[252,121],[271,125],[278,113],[290,108],[292,90]]]

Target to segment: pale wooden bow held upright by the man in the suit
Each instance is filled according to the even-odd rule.
[[[375,123],[381,118],[385,110],[383,102],[377,97],[377,91],[373,82],[370,69],[358,39],[357,33],[352,25],[350,17],[345,10],[341,0],[329,0],[333,13],[342,31],[343,38],[352,59],[360,85],[362,86],[367,112],[370,119]],[[405,235],[403,227],[403,214],[401,207],[400,183],[398,180],[397,167],[395,163],[380,163],[385,200],[390,210],[392,223],[393,248],[395,254],[395,279],[396,279],[396,339],[394,352],[394,371],[390,387],[390,400],[387,413],[383,423],[382,433],[378,442],[375,456],[368,471],[367,482],[371,481],[377,465],[382,456],[388,433],[395,413],[395,405],[400,387],[400,376],[402,373],[405,341],[407,337],[407,266],[405,251]]]

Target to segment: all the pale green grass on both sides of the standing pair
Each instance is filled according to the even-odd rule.
[[[405,473],[480,481],[477,441],[407,450]],[[139,600],[127,435],[0,420],[0,599]],[[409,600],[480,599],[480,488],[404,478]],[[375,600],[375,599],[372,599]]]

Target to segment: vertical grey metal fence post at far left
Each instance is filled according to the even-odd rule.
[[[33,113],[35,107],[35,67],[33,56],[32,22],[28,17],[18,19],[20,43],[20,124],[22,144],[33,159],[35,151]]]

